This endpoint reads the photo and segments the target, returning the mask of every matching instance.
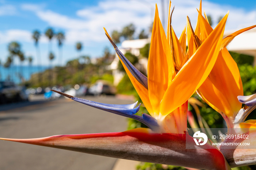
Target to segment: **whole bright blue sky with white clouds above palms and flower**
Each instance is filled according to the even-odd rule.
[[[103,27],[109,31],[121,30],[129,23],[136,26],[137,34],[142,29],[148,29],[153,22],[155,3],[158,4],[159,15],[162,19],[161,0],[0,0],[0,60],[6,61],[8,56],[7,45],[11,41],[18,41],[26,56],[33,56],[33,64],[37,64],[35,47],[31,39],[31,32],[39,30],[44,34],[46,28],[52,27],[55,32],[65,32],[66,39],[63,45],[63,62],[78,56],[75,43],[83,43],[83,55],[92,58],[103,54],[105,47],[112,49],[106,38]],[[167,16],[168,0],[164,0],[164,13]],[[197,19],[196,8],[199,0],[173,0],[175,5],[172,25],[177,35],[186,24],[188,15],[193,27]],[[230,10],[226,30],[256,24],[256,0],[203,0],[203,9],[211,15],[214,26],[219,18]],[[165,19],[166,20],[166,19]],[[163,24],[166,25],[166,24]],[[214,27],[213,26],[213,27]],[[42,65],[48,65],[48,40],[44,35],[39,40]],[[57,42],[52,42],[56,56],[54,64],[59,64]],[[112,49],[113,51],[113,49]],[[18,63],[18,61],[15,61]]]

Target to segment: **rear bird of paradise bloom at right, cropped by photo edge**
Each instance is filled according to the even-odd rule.
[[[204,15],[206,16],[205,12]],[[201,10],[199,10],[197,26],[195,32],[191,31],[192,33],[188,35],[188,37],[190,36],[190,38],[188,38],[191,40],[190,43],[193,44],[198,42],[197,38],[200,42],[203,42],[213,31],[207,21],[207,17],[205,19],[202,16]],[[244,139],[243,142],[250,143],[251,145],[255,144],[256,120],[245,121],[245,119],[249,113],[256,108],[256,94],[243,96],[243,86],[237,64],[227,51],[226,46],[235,36],[254,27],[256,27],[256,25],[238,30],[222,40],[217,61],[206,81],[204,81],[197,90],[199,96],[222,115],[228,127],[227,134],[249,134],[250,137]],[[195,35],[196,38],[194,38]],[[188,49],[188,53],[193,53],[193,51],[197,49],[197,46],[194,47],[195,48]],[[248,108],[242,108],[242,104],[247,105]],[[225,139],[223,142],[240,143],[241,139]],[[229,150],[229,152],[225,152],[225,145],[220,146],[219,148],[226,158],[230,158],[231,155],[237,155],[236,157],[230,158],[233,163],[239,162],[240,159],[245,157],[250,159],[254,159],[255,157],[255,150],[250,149],[249,147],[238,146]],[[227,159],[227,161],[230,160]]]

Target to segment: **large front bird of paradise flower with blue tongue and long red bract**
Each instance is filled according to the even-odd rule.
[[[134,115],[139,111],[140,105],[136,107],[137,103],[102,104],[55,91],[91,107],[136,119],[146,124],[148,128],[105,134],[58,135],[38,139],[1,139],[136,161],[200,169],[230,169],[218,148],[206,144],[204,149],[197,146],[195,149],[186,149],[185,140],[188,99],[198,89],[197,92],[211,104],[207,93],[204,92],[204,87],[209,85],[209,80],[211,82],[216,80],[216,77],[211,75],[215,74],[216,67],[217,70],[220,67],[218,64],[223,63],[223,59],[219,56],[223,53],[223,55],[227,55],[225,47],[238,33],[222,39],[228,14],[213,30],[207,25],[207,20],[202,18],[200,3],[195,32],[189,18],[187,19],[188,51],[186,52],[186,30],[184,29],[178,39],[171,25],[172,12],[170,9],[169,5],[166,35],[156,6],[147,77],[124,57],[105,30],[151,116],[147,114]],[[207,29],[204,30],[199,25]],[[240,33],[246,30],[248,28],[240,30]],[[238,84],[240,85],[240,81]],[[209,94],[209,96],[211,95]],[[214,104],[211,106],[214,107]],[[230,112],[224,113],[231,115]],[[191,145],[195,145],[189,136],[187,136],[187,140],[191,141]]]

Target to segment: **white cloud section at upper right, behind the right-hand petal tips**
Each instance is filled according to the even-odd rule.
[[[195,28],[198,15],[196,8],[199,9],[199,3],[200,1],[198,0],[190,0],[186,1],[186,3],[181,0],[172,0],[172,6],[175,5],[172,25],[177,36],[181,34],[186,24],[187,15],[191,19],[193,28]],[[213,27],[217,25],[218,18],[226,15],[228,11],[230,12],[225,30],[238,30],[256,24],[256,10],[245,11],[242,8],[232,7],[231,5],[220,5],[208,1],[202,1],[202,10],[205,10],[206,14],[211,16],[214,23]]]

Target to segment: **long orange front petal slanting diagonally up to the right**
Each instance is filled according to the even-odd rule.
[[[185,103],[208,77],[218,57],[227,15],[189,58],[166,90],[160,108],[163,116]]]

